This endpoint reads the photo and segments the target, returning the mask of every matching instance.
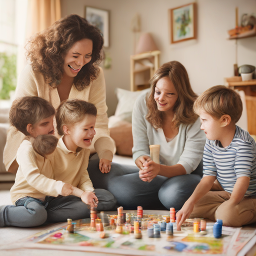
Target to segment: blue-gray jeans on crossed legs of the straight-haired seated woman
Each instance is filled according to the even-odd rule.
[[[151,182],[142,181],[138,167],[112,163],[108,173],[101,173],[99,159],[93,155],[88,164],[88,173],[95,188],[110,191],[124,209],[169,209],[179,210],[192,194],[202,177],[202,161],[192,174],[172,178],[157,175]]]

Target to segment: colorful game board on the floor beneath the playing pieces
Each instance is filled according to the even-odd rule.
[[[125,211],[125,213],[127,212],[136,214],[136,211]],[[159,219],[163,218],[163,216],[155,215],[153,212],[152,214],[143,214],[143,218],[149,215],[151,215],[151,217],[157,216]],[[108,215],[108,219],[111,217],[113,217],[113,215]],[[104,232],[109,236],[100,238],[102,232],[91,230],[90,218],[72,221],[72,224],[74,225],[74,233],[67,231],[67,225],[56,225],[52,229],[44,230],[23,240],[20,243],[20,247],[145,256],[188,254],[227,255],[228,249],[230,250],[229,245],[233,245],[232,240],[236,240],[239,233],[237,233],[238,229],[232,229],[227,231],[227,234],[223,234],[225,232],[222,232],[221,238],[214,238],[212,225],[207,225],[206,231],[202,232],[202,234],[200,234],[200,232],[194,233],[192,227],[193,223],[189,220],[181,227],[181,231],[176,230],[174,223],[172,237],[167,237],[165,231],[161,231],[160,238],[149,238],[147,236],[147,230],[141,230],[142,238],[136,239],[134,238],[134,233],[116,233],[116,225],[113,224],[104,226]],[[234,237],[235,233],[237,234]]]

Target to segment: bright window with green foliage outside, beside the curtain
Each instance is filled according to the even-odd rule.
[[[11,97],[24,67],[26,8],[27,0],[0,0],[0,99]]]

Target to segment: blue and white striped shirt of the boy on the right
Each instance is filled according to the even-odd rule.
[[[223,189],[232,193],[238,177],[250,178],[245,196],[256,194],[256,143],[250,134],[236,126],[230,145],[206,139],[203,151],[203,174],[216,176]]]

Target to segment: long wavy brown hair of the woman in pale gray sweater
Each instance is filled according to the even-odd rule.
[[[151,90],[146,101],[148,108],[146,119],[155,129],[162,127],[162,112],[158,110],[154,100],[156,83],[162,77],[169,77],[178,94],[178,98],[173,107],[175,114],[172,120],[172,127],[178,128],[181,123],[194,123],[198,118],[198,115],[193,112],[193,103],[197,95],[191,88],[185,67],[178,61],[164,63],[155,71],[151,78]]]

